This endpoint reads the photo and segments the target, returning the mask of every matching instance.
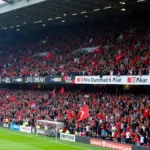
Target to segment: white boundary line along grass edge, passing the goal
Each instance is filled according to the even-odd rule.
[[[10,131],[7,131],[7,130],[1,130],[1,129],[0,129],[0,131],[11,133],[11,134],[15,134],[15,135],[20,135],[20,136],[25,136],[25,137],[29,137],[29,138],[35,138],[35,139],[38,139],[38,140],[47,141],[49,143],[56,143],[54,141],[49,141],[47,139],[41,139],[41,138],[33,137],[31,134],[30,135],[22,135],[22,134],[19,134],[19,133],[14,133],[14,132],[10,132]],[[83,150],[87,150],[86,148],[83,148],[83,147],[69,145],[69,144],[64,144],[64,143],[60,143],[60,142],[57,142],[57,144],[66,145],[66,146],[70,146],[70,147],[75,147],[75,148],[80,148],[80,149],[83,149]]]

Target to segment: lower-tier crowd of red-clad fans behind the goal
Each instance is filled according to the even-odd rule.
[[[1,121],[33,127],[37,120],[61,121],[63,132],[150,147],[149,95],[1,89],[0,97]],[[84,105],[89,118],[78,121]]]

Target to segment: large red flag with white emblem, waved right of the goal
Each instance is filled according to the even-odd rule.
[[[79,111],[79,115],[80,115],[79,121],[82,121],[89,117],[89,108],[87,105],[81,108],[81,110]]]

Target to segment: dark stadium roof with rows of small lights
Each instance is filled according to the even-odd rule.
[[[0,0],[0,30],[33,30],[146,10],[149,0]]]

